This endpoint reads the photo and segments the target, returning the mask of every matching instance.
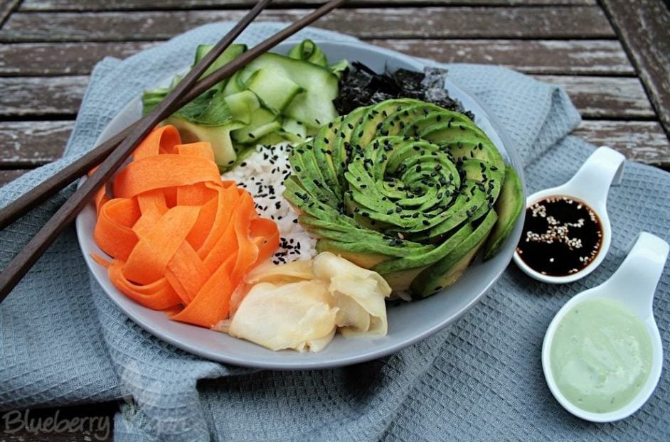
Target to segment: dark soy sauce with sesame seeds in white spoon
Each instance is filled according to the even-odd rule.
[[[551,196],[526,209],[516,252],[538,273],[566,276],[590,264],[601,244],[602,226],[591,207],[576,198]]]

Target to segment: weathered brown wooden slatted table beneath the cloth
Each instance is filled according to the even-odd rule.
[[[668,0],[665,0],[666,2]],[[0,0],[0,185],[58,158],[92,67],[211,21],[251,0]],[[261,20],[294,21],[314,2],[277,0]],[[565,87],[575,134],[670,170],[670,13],[663,0],[362,0],[317,26],[442,62],[504,65]],[[31,410],[112,416],[117,404]],[[1,414],[0,414],[1,417]],[[97,440],[6,432],[0,440]]]

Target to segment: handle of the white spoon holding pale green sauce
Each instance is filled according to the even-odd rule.
[[[670,246],[664,239],[648,232],[640,232],[631,244],[626,259],[605,286],[611,290],[612,297],[627,305],[640,318],[649,318],[653,315],[654,292],[663,274]]]

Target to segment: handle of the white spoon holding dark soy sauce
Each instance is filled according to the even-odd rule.
[[[575,197],[591,204],[602,205],[594,208],[605,213],[607,192],[610,190],[610,185],[621,182],[625,159],[626,157],[614,149],[602,146],[587,158],[565,186],[570,185],[570,188],[574,189]]]

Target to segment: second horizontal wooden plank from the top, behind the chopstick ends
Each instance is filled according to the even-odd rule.
[[[0,42],[153,41],[205,23],[238,21],[244,10],[15,13]],[[296,21],[299,9],[264,11],[259,20]],[[336,9],[316,24],[360,38],[613,38],[597,6]]]

